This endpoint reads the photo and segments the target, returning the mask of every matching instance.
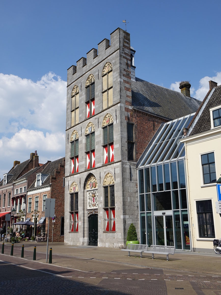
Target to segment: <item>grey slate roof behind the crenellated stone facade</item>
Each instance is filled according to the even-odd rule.
[[[136,77],[131,81],[132,106],[169,121],[197,111],[201,101]]]

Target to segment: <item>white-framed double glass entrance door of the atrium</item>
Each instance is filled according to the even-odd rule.
[[[172,215],[155,216],[156,245],[174,246]]]

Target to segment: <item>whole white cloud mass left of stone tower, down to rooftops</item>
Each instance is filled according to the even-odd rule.
[[[66,86],[54,73],[36,83],[0,73],[0,177],[37,150],[39,163],[65,156]]]

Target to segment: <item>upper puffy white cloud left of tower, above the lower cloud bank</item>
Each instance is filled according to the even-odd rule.
[[[66,85],[51,72],[36,83],[0,73],[1,132],[21,128],[64,132]]]

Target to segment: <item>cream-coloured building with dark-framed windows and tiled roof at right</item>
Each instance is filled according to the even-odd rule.
[[[192,251],[212,252],[221,237],[221,214],[216,212],[217,179],[221,173],[221,86],[210,81],[210,90],[184,129],[187,195]]]

